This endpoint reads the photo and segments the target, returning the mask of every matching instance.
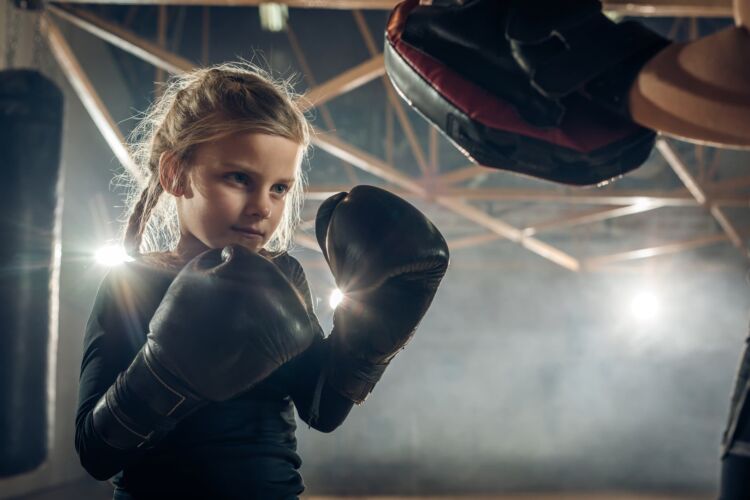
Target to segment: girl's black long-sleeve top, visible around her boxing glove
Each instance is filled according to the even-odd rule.
[[[293,407],[307,424],[330,432],[352,403],[322,376],[331,362],[328,343],[302,267],[288,254],[272,260],[317,325],[311,347],[251,390],[189,415],[153,447],[132,451],[112,448],[97,435],[92,410],[145,343],[150,318],[177,271],[144,258],[105,277],[84,337],[75,445],[92,476],[116,475],[115,498],[287,499],[304,490]]]

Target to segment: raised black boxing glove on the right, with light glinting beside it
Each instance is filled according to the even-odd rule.
[[[359,404],[427,312],[448,267],[448,246],[419,210],[373,186],[326,200],[315,233],[344,294],[326,377]]]

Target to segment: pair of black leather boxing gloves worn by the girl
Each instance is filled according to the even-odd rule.
[[[344,299],[324,376],[361,403],[412,337],[448,266],[440,232],[415,207],[372,186],[326,200],[316,237]],[[177,275],[146,343],[94,408],[110,446],[158,441],[209,401],[224,401],[302,353],[316,335],[279,269],[238,246],[207,251]]]

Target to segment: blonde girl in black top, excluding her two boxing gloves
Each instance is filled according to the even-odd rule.
[[[303,482],[293,406],[330,432],[353,404],[326,385],[316,395],[323,334],[304,272],[285,253],[299,216],[309,125],[284,86],[255,68],[221,65],[171,81],[137,132],[135,158],[148,183],[125,230],[135,259],[105,278],[86,329],[76,417],[81,463],[97,479],[115,476],[116,499],[296,498]],[[160,239],[173,250],[138,253]],[[179,422],[159,421],[173,428],[158,439],[112,446],[94,425],[97,403],[141,350],[178,271],[201,252],[232,244],[270,258],[304,297],[312,346],[238,397]],[[147,406],[132,406],[138,403]]]

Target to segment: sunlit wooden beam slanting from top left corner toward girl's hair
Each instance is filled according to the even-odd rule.
[[[117,126],[117,122],[109,114],[99,94],[97,94],[91,80],[88,79],[83,68],[76,59],[68,42],[60,30],[50,20],[48,14],[42,14],[40,18],[42,33],[47,38],[48,45],[54,55],[60,69],[70,82],[71,87],[81,100],[83,107],[91,116],[94,125],[102,134],[120,164],[125,167],[139,184],[144,182],[143,174],[133,162],[125,145],[125,137]]]

